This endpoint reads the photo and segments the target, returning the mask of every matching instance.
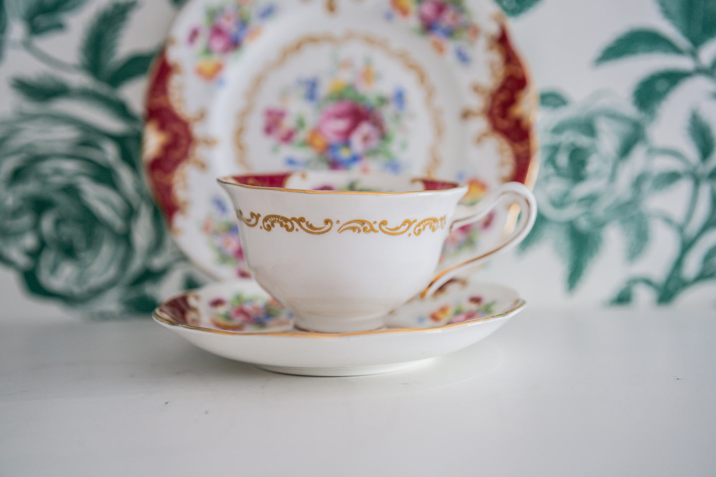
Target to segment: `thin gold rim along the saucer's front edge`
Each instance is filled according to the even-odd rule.
[[[468,326],[470,324],[475,324],[475,323],[480,323],[480,322],[488,322],[493,319],[506,317],[508,314],[512,314],[513,312],[516,312],[519,309],[522,309],[525,306],[525,304],[526,304],[526,302],[523,299],[518,298],[513,302],[511,308],[508,309],[506,312],[503,312],[500,314],[492,314],[489,317],[469,319],[468,321],[460,322],[460,323],[443,324],[439,327],[433,327],[433,328],[373,329],[370,331],[350,332],[350,333],[318,333],[318,332],[295,332],[295,331],[289,331],[289,332],[246,332],[246,333],[245,332],[231,332],[226,329],[204,328],[204,327],[195,326],[193,324],[178,323],[178,322],[175,322],[172,319],[164,316],[165,313],[163,313],[159,308],[154,310],[154,312],[152,313],[152,317],[156,321],[163,323],[163,324],[168,324],[169,326],[172,326],[172,327],[193,329],[194,331],[200,331],[200,332],[209,332],[209,333],[217,333],[217,334],[231,334],[233,336],[271,336],[271,337],[299,337],[299,338],[330,339],[330,338],[340,338],[340,337],[349,337],[349,336],[362,336],[364,334],[391,334],[391,333],[415,333],[415,332],[425,333],[425,332],[440,331],[442,329],[464,327],[464,326]]]

